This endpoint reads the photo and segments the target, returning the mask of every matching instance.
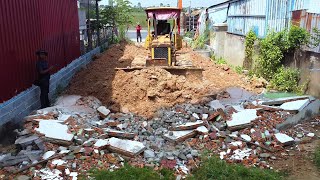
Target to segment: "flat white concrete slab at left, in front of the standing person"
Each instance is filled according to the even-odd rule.
[[[68,133],[68,126],[60,124],[59,121],[40,121],[39,128],[35,130],[54,140],[70,142],[73,139],[73,134]]]

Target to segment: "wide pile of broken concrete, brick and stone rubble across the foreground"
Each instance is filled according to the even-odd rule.
[[[238,88],[215,97],[159,109],[149,120],[111,112],[93,97],[62,97],[26,117],[16,152],[0,154],[0,166],[10,173],[26,170],[30,177],[77,179],[92,168],[113,171],[126,161],[184,176],[207,150],[229,163],[272,169],[272,161],[318,136],[313,127],[320,123],[314,118],[320,105],[312,97],[266,100]],[[297,124],[302,116],[312,120]],[[284,130],[290,123],[295,125]]]

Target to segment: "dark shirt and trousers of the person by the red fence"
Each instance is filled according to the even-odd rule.
[[[49,101],[49,85],[50,85],[50,73],[47,72],[45,74],[41,74],[42,71],[47,70],[49,68],[47,61],[39,60],[37,62],[37,72],[39,78],[39,87],[41,90],[40,94],[40,102],[41,108],[46,108],[50,106]]]

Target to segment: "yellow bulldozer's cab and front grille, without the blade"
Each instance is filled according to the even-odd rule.
[[[181,9],[172,7],[146,9],[148,35],[145,47],[150,50],[147,66],[173,66],[175,53],[182,48]]]

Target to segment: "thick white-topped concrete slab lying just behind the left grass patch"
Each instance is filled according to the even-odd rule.
[[[146,149],[146,147],[138,141],[122,140],[115,137],[112,137],[108,140],[108,149],[110,151],[123,154],[128,157],[135,157]]]

